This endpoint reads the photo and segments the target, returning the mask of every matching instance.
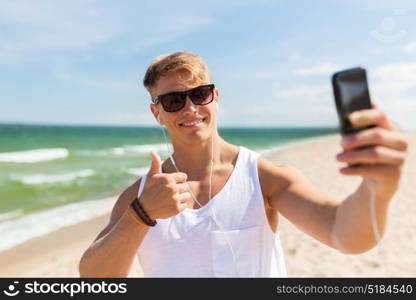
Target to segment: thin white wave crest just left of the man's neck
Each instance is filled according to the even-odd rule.
[[[172,149],[172,146],[170,147]],[[77,154],[81,156],[123,156],[130,154],[148,156],[150,151],[165,154],[167,153],[166,144],[125,145],[104,150],[80,150]]]

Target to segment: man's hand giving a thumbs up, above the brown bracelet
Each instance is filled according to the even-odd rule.
[[[155,219],[166,219],[183,211],[192,201],[186,184],[187,175],[182,172],[162,173],[159,155],[150,152],[152,164],[139,198],[147,214]]]

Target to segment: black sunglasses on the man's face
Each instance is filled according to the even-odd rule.
[[[167,112],[177,112],[185,107],[186,97],[189,96],[195,105],[207,105],[214,100],[215,85],[200,85],[184,92],[171,92],[159,95],[152,99],[153,104],[162,103],[162,107]]]

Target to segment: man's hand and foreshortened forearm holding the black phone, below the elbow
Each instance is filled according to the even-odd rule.
[[[380,237],[384,234],[388,206],[399,187],[408,141],[375,105],[351,114],[350,121],[354,127],[375,127],[342,138],[344,151],[337,155],[337,160],[360,165],[345,166],[340,172],[361,176],[363,181],[357,191],[338,206],[332,238],[340,251],[361,253],[377,244],[377,232]],[[372,209],[374,212],[370,214]]]

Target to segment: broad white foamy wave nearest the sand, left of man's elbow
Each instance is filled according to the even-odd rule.
[[[21,218],[0,222],[0,251],[73,225],[109,213],[117,197],[67,204]]]

